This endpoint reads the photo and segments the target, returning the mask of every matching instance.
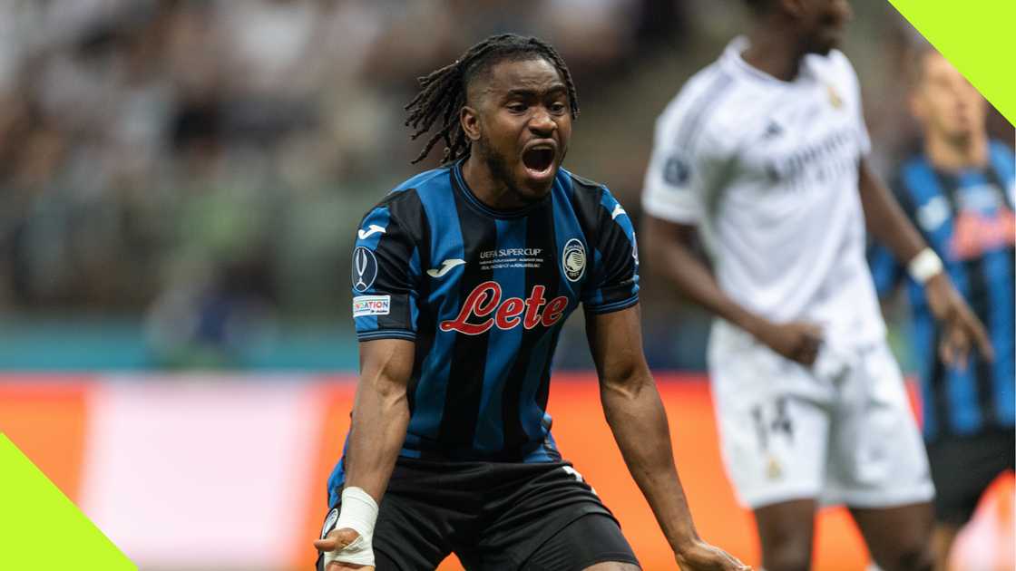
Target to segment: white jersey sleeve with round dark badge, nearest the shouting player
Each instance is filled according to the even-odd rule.
[[[711,126],[686,117],[681,102],[656,121],[652,154],[642,190],[648,214],[676,224],[697,224],[706,195],[726,164]]]

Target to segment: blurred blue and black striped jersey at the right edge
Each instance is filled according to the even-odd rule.
[[[900,204],[988,327],[996,354],[994,363],[973,355],[965,370],[947,368],[938,359],[941,331],[924,289],[906,278],[929,440],[993,427],[1012,428],[1016,417],[1013,151],[993,142],[990,158],[983,169],[945,173],[918,155],[902,166],[894,185]],[[906,273],[884,247],[871,249],[870,262],[883,296]]]

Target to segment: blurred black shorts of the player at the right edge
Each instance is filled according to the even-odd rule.
[[[1013,429],[951,436],[929,443],[936,520],[953,525],[966,523],[985,489],[1003,471],[1014,469],[1014,450]]]

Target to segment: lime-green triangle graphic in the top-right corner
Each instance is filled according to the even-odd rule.
[[[889,0],[999,112],[1016,125],[1013,0]]]

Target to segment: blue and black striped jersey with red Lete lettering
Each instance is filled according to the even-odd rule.
[[[631,220],[602,185],[559,170],[524,209],[483,204],[461,162],[418,175],[364,217],[353,255],[362,341],[416,341],[401,454],[551,461],[547,400],[561,327],[638,302]],[[342,480],[341,461],[329,490]]]

